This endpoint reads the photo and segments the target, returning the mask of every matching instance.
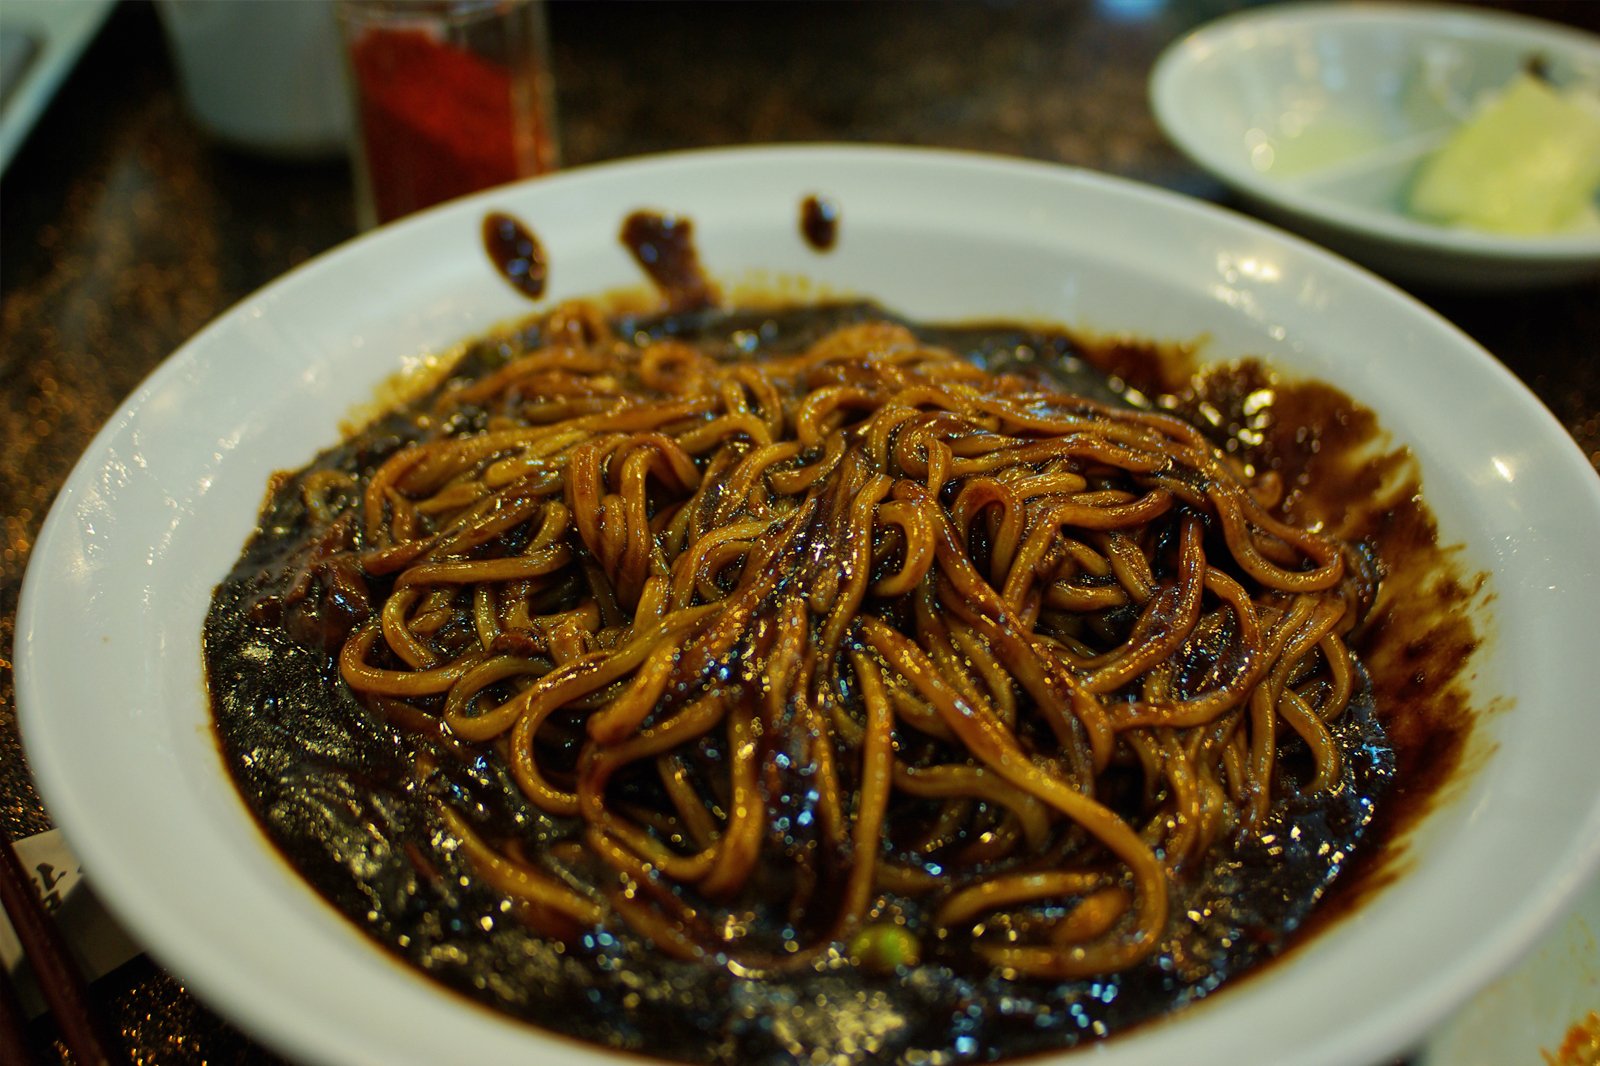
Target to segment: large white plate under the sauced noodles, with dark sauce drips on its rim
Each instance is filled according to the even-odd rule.
[[[798,206],[842,211],[827,254]],[[30,765],[126,925],[290,1055],[590,1063],[390,960],[266,844],[218,757],[198,634],[267,475],[306,463],[406,357],[528,311],[478,245],[523,218],[550,296],[634,285],[642,206],[694,221],[723,279],[806,275],[910,315],[1208,338],[1342,386],[1410,442],[1445,536],[1491,571],[1490,752],[1403,877],[1278,965],[1098,1063],[1338,1063],[1414,1040],[1560,917],[1600,861],[1600,480],[1501,365],[1406,296],[1216,208],[1090,173],[904,149],[746,149],[578,170],[445,205],[294,271],[179,349],[112,418],[34,549],[16,635]],[[1470,887],[1470,888],[1469,888]]]

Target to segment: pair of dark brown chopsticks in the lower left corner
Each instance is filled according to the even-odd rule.
[[[83,973],[69,954],[54,919],[34,892],[34,882],[22,869],[10,837],[0,837],[0,906],[5,906],[22,954],[34,967],[38,991],[61,1028],[61,1040],[78,1066],[110,1066],[118,1061],[122,1056],[114,1058],[110,1053],[117,1044],[90,1002]],[[6,986],[6,996],[0,997],[0,1053],[5,1061],[27,1061],[26,1018],[10,983],[0,984]]]

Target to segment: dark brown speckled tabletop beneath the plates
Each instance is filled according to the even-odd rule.
[[[14,5],[13,5],[14,6]],[[1158,51],[1232,0],[552,3],[563,162],[701,146],[979,149],[1232,205],[1157,130]],[[1600,29],[1600,5],[1517,3]],[[342,160],[210,142],[155,10],[123,0],[0,181],[0,826],[50,828],[13,711],[29,549],[93,434],[155,365],[258,287],[355,235]],[[1522,378],[1600,469],[1600,282],[1418,291]],[[96,986],[134,1061],[272,1056],[138,959]],[[50,1023],[35,1032],[62,1058]]]

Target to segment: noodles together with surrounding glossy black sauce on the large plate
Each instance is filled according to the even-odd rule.
[[[230,770],[389,949],[600,1044],[968,1061],[1205,996],[1366,847],[1384,563],[1067,346],[472,346],[274,483],[206,626]]]

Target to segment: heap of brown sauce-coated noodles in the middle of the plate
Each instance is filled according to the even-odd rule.
[[[586,306],[544,338],[443,389],[350,520],[306,493],[374,597],[344,683],[586,844],[440,799],[547,935],[762,976],[909,898],[1008,975],[1115,973],[1214,842],[1338,787],[1371,578],[1187,423],[890,322],[757,362]]]

